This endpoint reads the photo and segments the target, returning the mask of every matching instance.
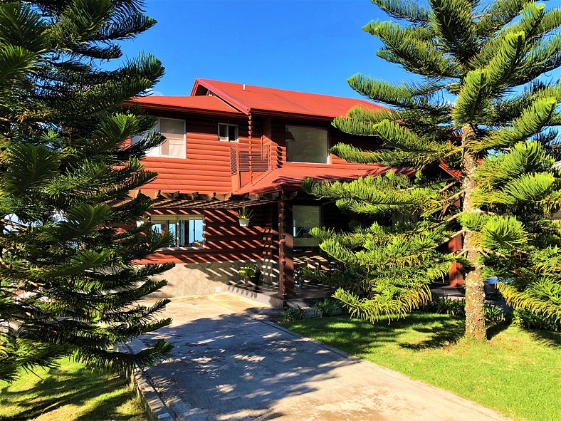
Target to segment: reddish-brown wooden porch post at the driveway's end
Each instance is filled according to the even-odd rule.
[[[295,298],[292,205],[278,202],[278,298]]]

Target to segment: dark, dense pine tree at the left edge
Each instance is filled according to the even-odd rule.
[[[114,349],[170,323],[157,318],[167,300],[135,304],[172,265],[134,264],[170,239],[137,227],[150,199],[127,196],[156,176],[140,158],[163,137],[130,146],[155,122],[122,108],[163,67],[150,55],[101,66],[154,23],[138,0],[0,4],[1,380],[68,355],[125,370],[172,348]]]

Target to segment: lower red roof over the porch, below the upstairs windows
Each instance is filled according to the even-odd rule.
[[[326,167],[300,167],[296,165],[285,165],[281,168],[276,168],[258,180],[255,184],[246,185],[241,187],[233,194],[256,194],[256,193],[271,193],[298,190],[300,184],[311,177],[316,181],[352,181],[367,175],[381,175],[391,170],[390,167],[384,165],[364,165],[354,168],[330,168]],[[395,171],[396,169],[394,169]],[[403,170],[407,172],[406,170]]]

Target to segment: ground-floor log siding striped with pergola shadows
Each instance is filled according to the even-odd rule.
[[[238,215],[232,209],[201,209],[182,211],[153,209],[152,215],[203,215],[204,248],[190,250],[162,250],[143,260],[147,263],[195,263],[263,259],[263,211],[253,207],[249,227],[240,227]]]

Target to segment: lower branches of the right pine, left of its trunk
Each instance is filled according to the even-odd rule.
[[[429,285],[448,274],[453,262],[469,264],[461,256],[442,252],[450,236],[446,224],[433,215],[457,199],[419,177],[387,172],[352,182],[314,182],[303,187],[316,197],[335,200],[345,212],[381,218],[394,224],[354,223],[347,232],[315,228],[320,247],[344,263],[331,274],[310,273],[318,281],[340,286],[335,298],[352,316],[377,321],[401,318],[431,299]],[[438,188],[440,187],[440,189]]]

